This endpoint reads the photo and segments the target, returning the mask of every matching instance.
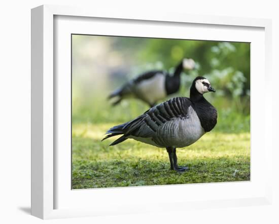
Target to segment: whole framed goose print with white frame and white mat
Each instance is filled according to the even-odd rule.
[[[32,215],[270,203],[269,20],[31,15]]]

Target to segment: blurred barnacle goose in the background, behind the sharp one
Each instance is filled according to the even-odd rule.
[[[173,74],[161,70],[145,72],[115,90],[108,98],[117,98],[113,105],[120,103],[123,98],[137,98],[152,107],[158,100],[164,99],[169,94],[176,93],[180,87],[182,70],[191,70],[194,67],[195,62],[193,59],[184,58],[177,65]]]

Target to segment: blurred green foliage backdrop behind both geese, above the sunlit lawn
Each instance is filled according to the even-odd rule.
[[[94,52],[97,51],[96,46],[101,46],[103,42],[99,52],[106,49],[108,52],[101,57]],[[94,49],[87,51],[92,43],[95,43]],[[97,65],[88,65],[91,54],[90,63],[95,62]],[[192,80],[198,75],[204,76],[217,90],[216,93],[204,95],[218,109],[218,125],[215,129],[225,132],[250,131],[250,44],[236,42],[77,35],[73,40],[73,122],[123,123],[141,115],[148,109],[145,103],[133,99],[123,100],[120,105],[112,107],[107,96],[146,70],[173,71],[183,57],[193,58],[197,63],[196,69],[182,74],[179,93],[168,98],[189,96]],[[114,61],[119,65],[111,65],[116,63]],[[109,69],[107,78],[97,77],[99,71],[104,72],[100,64],[105,70]],[[119,70],[122,66],[129,69],[124,76]],[[88,71],[85,67],[88,67]],[[88,73],[86,76],[83,73],[85,71]]]

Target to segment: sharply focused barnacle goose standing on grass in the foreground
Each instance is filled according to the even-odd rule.
[[[178,166],[176,148],[193,144],[217,123],[216,108],[203,97],[207,92],[215,92],[215,89],[207,79],[197,77],[191,85],[190,98],[175,97],[162,102],[136,119],[112,127],[102,140],[122,134],[110,145],[132,138],[164,147],[170,169],[185,171],[187,167]]]

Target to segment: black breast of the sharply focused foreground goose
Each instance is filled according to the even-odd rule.
[[[217,124],[217,110],[206,99],[194,102],[194,109],[205,132],[211,131]]]

